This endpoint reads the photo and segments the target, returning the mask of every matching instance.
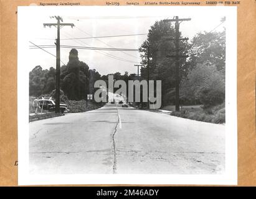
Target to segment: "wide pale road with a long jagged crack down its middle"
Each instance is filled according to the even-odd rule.
[[[224,124],[107,104],[29,127],[31,174],[224,172]]]

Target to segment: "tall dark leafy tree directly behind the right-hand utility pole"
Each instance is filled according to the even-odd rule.
[[[182,37],[182,36],[181,36]],[[162,81],[162,104],[174,103],[173,95],[175,89],[175,65],[174,58],[168,58],[168,55],[175,53],[175,29],[173,25],[164,21],[156,21],[148,32],[148,38],[140,47],[141,58],[144,67],[141,68],[141,77],[147,79],[149,61],[149,79]],[[180,41],[181,55],[187,53],[189,45],[186,40]],[[181,76],[184,75],[183,66],[186,58],[181,58]]]

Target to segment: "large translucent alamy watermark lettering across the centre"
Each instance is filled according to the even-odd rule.
[[[104,80],[97,80],[94,83],[94,88],[100,88],[94,94],[94,99],[98,103],[107,102],[107,92],[114,91],[114,88],[119,88],[115,94],[127,95],[126,82],[123,80],[114,81],[113,75],[108,75],[108,87]],[[159,109],[161,107],[161,80],[156,80],[155,89],[154,80],[149,80],[149,85],[146,80],[128,80],[128,102],[141,102],[141,96],[142,102],[148,102],[149,98],[149,109]]]

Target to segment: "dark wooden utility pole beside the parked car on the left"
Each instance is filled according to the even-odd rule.
[[[60,113],[60,27],[69,25],[73,28],[73,26],[75,26],[75,25],[60,23],[60,21],[63,22],[63,19],[60,16],[54,16],[54,17],[50,17],[50,18],[57,19],[57,24],[44,24],[44,27],[45,26],[57,27],[57,40],[55,42],[55,44],[56,44],[55,113]]]

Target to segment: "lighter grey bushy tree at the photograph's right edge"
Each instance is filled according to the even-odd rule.
[[[190,56],[185,63],[187,75],[181,82],[185,103],[204,107],[225,101],[225,30],[204,32],[192,39]]]

